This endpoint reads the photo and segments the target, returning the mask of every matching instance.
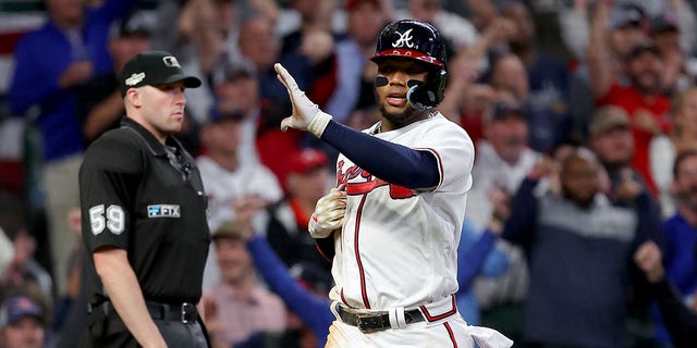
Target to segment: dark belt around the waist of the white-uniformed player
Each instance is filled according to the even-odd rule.
[[[399,324],[392,324],[390,322],[389,311],[374,311],[374,312],[359,312],[344,304],[337,304],[337,312],[339,318],[345,324],[356,326],[360,332],[372,333],[377,331],[383,331],[388,328],[398,328]],[[400,318],[399,321],[405,324],[418,323],[424,321],[424,314],[418,309],[404,310],[403,321]],[[395,315],[393,313],[393,316]]]

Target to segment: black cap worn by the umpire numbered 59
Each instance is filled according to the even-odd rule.
[[[172,84],[180,80],[183,80],[187,88],[200,86],[200,79],[184,74],[182,65],[171,53],[145,51],[136,54],[123,66],[119,76],[119,88],[121,96],[125,96],[129,88]]]

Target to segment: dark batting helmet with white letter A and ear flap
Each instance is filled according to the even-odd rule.
[[[377,63],[390,57],[414,59],[432,67],[425,83],[409,86],[406,98],[414,109],[428,110],[443,100],[448,57],[445,42],[436,27],[414,20],[388,24],[380,33],[375,55],[370,60]]]

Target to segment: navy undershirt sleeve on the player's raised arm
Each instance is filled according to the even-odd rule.
[[[330,121],[322,140],[370,174],[411,189],[435,187],[440,182],[436,156],[430,151],[372,137]]]

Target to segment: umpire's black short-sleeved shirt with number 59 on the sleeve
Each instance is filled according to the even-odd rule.
[[[196,303],[210,234],[206,195],[191,154],[129,117],[91,144],[80,170],[83,240],[91,253],[126,250],[146,300]],[[90,258],[90,303],[103,286]]]

